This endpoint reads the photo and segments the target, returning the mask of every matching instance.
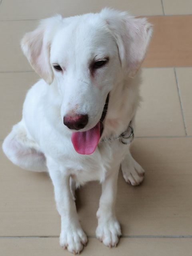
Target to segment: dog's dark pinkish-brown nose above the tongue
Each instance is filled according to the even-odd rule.
[[[63,123],[71,130],[80,130],[88,123],[88,115],[66,115]]]

